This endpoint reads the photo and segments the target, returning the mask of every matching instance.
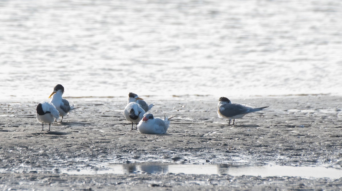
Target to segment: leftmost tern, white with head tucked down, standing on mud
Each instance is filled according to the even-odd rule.
[[[60,117],[60,112],[56,107],[46,101],[41,101],[36,109],[36,117],[39,123],[42,123],[42,131],[44,130],[44,123],[49,123],[49,131],[51,123]]]

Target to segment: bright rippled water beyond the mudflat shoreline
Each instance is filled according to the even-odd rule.
[[[3,0],[0,100],[342,95],[340,0]]]

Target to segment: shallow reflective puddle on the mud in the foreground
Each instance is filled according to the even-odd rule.
[[[290,176],[302,178],[331,178],[342,177],[342,170],[325,168],[322,166],[279,166],[279,165],[227,165],[227,164],[176,164],[160,162],[143,162],[130,164],[107,163],[103,165],[106,170],[78,170],[62,171],[66,174],[91,175],[91,174],[131,174],[131,173],[150,173],[150,174],[197,174],[197,175],[223,175],[232,176]]]

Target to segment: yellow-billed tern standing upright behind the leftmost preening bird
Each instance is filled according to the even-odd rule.
[[[69,101],[67,101],[66,99],[62,98],[62,95],[64,93],[64,87],[61,84],[57,84],[54,88],[53,88],[53,92],[52,94],[49,96],[49,98],[51,96],[53,96],[50,100],[50,103],[52,103],[56,109],[60,112],[60,116],[62,116],[62,120],[63,121],[63,117],[68,114],[68,112],[72,109],[74,109],[74,105],[70,106],[69,105]]]

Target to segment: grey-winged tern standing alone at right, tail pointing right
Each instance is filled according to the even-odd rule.
[[[255,111],[262,111],[266,107],[258,107],[258,108],[253,108],[251,106],[247,105],[241,105],[241,104],[232,104],[232,102],[226,98],[226,97],[220,97],[219,99],[219,104],[217,105],[217,114],[219,117],[227,118],[229,119],[229,125],[231,124],[231,120],[233,121],[233,125],[235,122],[235,119],[242,118],[245,116],[247,113],[255,112]]]

